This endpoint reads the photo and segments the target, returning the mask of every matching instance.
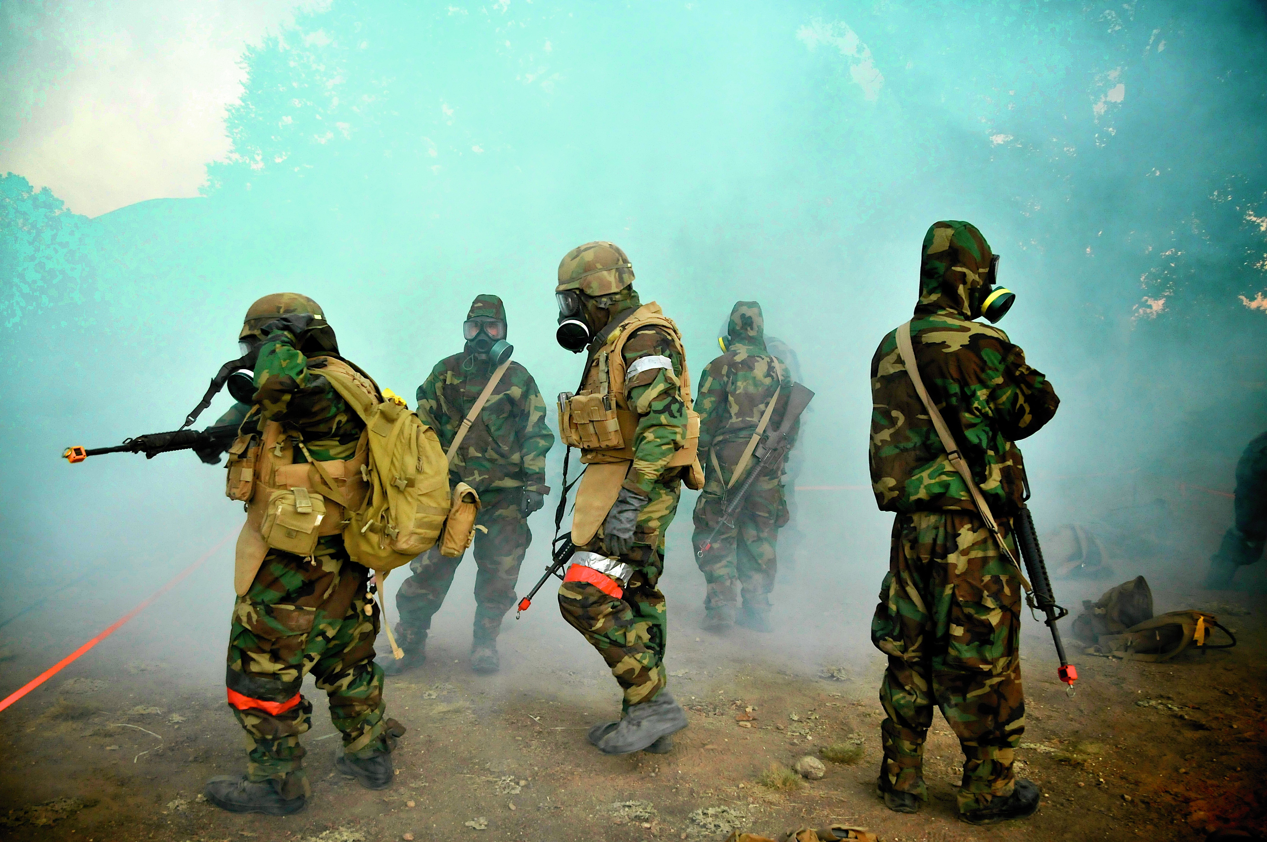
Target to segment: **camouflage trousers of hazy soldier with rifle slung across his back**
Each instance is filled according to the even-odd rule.
[[[727,465],[727,470],[730,465],[739,463],[745,444],[746,440],[732,441],[721,448],[721,463]],[[787,506],[779,477],[774,474],[758,478],[744,498],[742,507],[735,514],[735,525],[722,525],[708,552],[701,555],[704,541],[721,525],[727,505],[729,478],[720,476],[711,463],[706,470],[703,493],[696,500],[696,531],[691,538],[696,564],[704,574],[708,588],[704,607],[734,605],[739,599],[736,583],[742,588],[744,605],[769,607],[770,591],[774,590],[774,577],[778,574],[775,548],[779,528],[787,524]],[[737,491],[741,482],[742,479],[735,483],[736,488],[731,491]]]

